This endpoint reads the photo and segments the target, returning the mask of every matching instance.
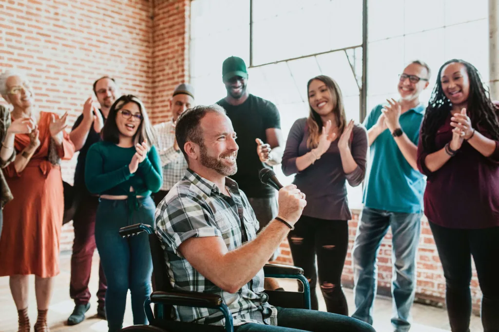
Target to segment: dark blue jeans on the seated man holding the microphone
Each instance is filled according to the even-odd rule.
[[[277,326],[248,323],[234,327],[235,332],[376,332],[372,326],[354,318],[305,309],[277,309]],[[206,332],[224,331],[221,327],[184,322],[169,322],[168,331]]]

